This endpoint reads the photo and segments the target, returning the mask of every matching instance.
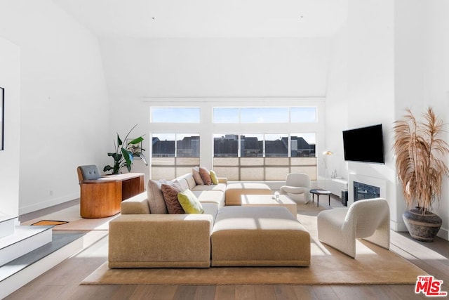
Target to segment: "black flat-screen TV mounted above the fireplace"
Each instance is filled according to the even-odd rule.
[[[384,164],[382,124],[343,131],[344,160]]]

